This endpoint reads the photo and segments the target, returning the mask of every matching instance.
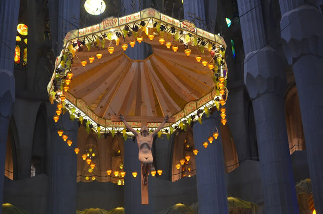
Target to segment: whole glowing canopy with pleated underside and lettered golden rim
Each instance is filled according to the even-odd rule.
[[[134,35],[130,37],[126,35],[124,41],[122,36],[118,37],[120,39],[118,46],[115,41],[116,32],[123,33],[125,26],[139,25],[142,21],[145,22],[145,26],[139,27],[137,36],[142,36],[142,42],[152,45],[153,53],[145,60],[131,60],[123,52],[121,44],[136,40]],[[165,31],[173,27],[176,33],[164,31],[161,36],[162,31],[158,32],[154,23],[166,26]],[[154,34],[152,41],[145,33],[146,28],[149,34]],[[95,38],[104,34],[111,36],[110,39],[103,38],[104,48],[99,44],[98,47],[91,47],[88,51],[84,45],[83,51],[76,52],[71,68],[72,82],[68,92],[64,92],[66,103],[76,109],[72,114],[78,117],[77,113],[79,113],[89,119],[93,127],[96,127],[96,124],[107,129],[124,127],[122,122],[113,122],[111,116],[119,113],[140,116],[141,104],[148,106],[147,116],[174,116],[175,124],[166,126],[175,126],[176,123],[196,114],[198,109],[214,105],[214,99],[221,96],[213,87],[210,70],[203,67],[201,62],[197,63],[195,57],[201,56],[203,60],[207,59],[209,62],[211,58],[207,44],[215,45],[218,50],[215,54],[220,55],[220,47],[226,47],[224,39],[219,35],[196,28],[192,22],[173,19],[151,8],[120,18],[106,18],[97,25],[70,31],[64,39],[64,48],[56,60],[55,67],[62,68],[61,59],[68,51],[69,44],[77,40],[84,40],[86,43],[94,42]],[[177,52],[175,53],[172,48],[168,49],[165,44],[161,45],[158,42],[160,37],[164,37],[166,42],[172,42],[172,45],[178,45]],[[199,41],[198,44],[204,41],[205,45],[198,45],[197,41]],[[184,53],[186,48],[183,43],[187,43],[191,50],[189,57]],[[135,45],[140,44],[136,42]],[[107,50],[109,46],[114,47],[112,55]],[[204,46],[202,50],[200,46]],[[128,48],[131,48],[130,45]],[[95,57],[97,52],[102,53],[100,60]],[[88,61],[90,56],[95,57],[92,64]],[[81,66],[83,60],[87,60],[84,68]],[[223,70],[227,71],[226,65]],[[225,76],[227,78],[228,74]],[[49,95],[53,91],[55,77],[56,72],[53,73],[47,86]],[[56,100],[60,101],[59,98]],[[117,102],[119,104],[115,104]],[[133,122],[131,125],[140,128],[141,124]],[[158,125],[159,123],[148,123],[149,128],[155,128]]]

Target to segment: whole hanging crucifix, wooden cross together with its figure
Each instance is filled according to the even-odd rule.
[[[141,204],[148,204],[148,175],[151,170],[153,157],[151,154],[151,147],[154,136],[160,131],[167,122],[175,123],[175,118],[161,117],[146,117],[146,105],[141,105],[141,117],[129,116],[125,117],[122,114],[118,116],[112,116],[112,121],[122,121],[125,126],[136,136],[137,144],[139,148],[138,158],[141,162]],[[147,128],[147,122],[160,123],[156,130],[149,134]],[[134,130],[128,122],[140,122],[140,133]]]

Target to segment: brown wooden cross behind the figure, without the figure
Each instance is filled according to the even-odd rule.
[[[147,126],[147,123],[160,123],[164,120],[164,118],[161,117],[147,117],[147,106],[141,105],[141,116],[125,116],[125,120],[127,122],[140,122],[141,126]],[[113,122],[121,122],[119,115],[113,115],[111,117]],[[175,118],[169,118],[169,123],[175,123]],[[144,184],[143,182],[143,173],[142,173],[142,163],[141,163],[141,204],[148,204],[148,178],[147,183]]]

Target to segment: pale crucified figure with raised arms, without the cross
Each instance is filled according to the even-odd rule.
[[[125,124],[125,126],[136,136],[137,144],[139,148],[138,158],[142,163],[142,173],[143,173],[143,183],[146,185],[148,174],[151,169],[151,164],[153,161],[153,157],[151,154],[151,147],[153,137],[158,133],[160,129],[164,127],[164,125],[168,122],[169,117],[166,116],[164,121],[161,122],[160,126],[152,133],[149,134],[147,126],[141,126],[140,133],[136,132],[125,120],[125,117],[120,114],[120,120]]]

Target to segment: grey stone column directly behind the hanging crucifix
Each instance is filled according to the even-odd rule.
[[[124,146],[125,175],[125,214],[150,214],[152,213],[151,200],[148,205],[141,204],[141,163],[138,159],[138,145],[132,137],[128,137]],[[132,172],[137,172],[136,178]],[[151,176],[148,176],[148,188]]]

